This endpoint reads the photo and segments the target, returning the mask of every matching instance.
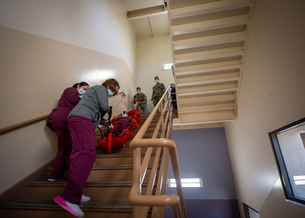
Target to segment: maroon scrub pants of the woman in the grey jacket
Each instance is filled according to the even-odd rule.
[[[95,128],[88,118],[71,116],[68,119],[68,129],[73,147],[68,184],[60,197],[72,204],[80,205],[82,190],[96,157]]]

